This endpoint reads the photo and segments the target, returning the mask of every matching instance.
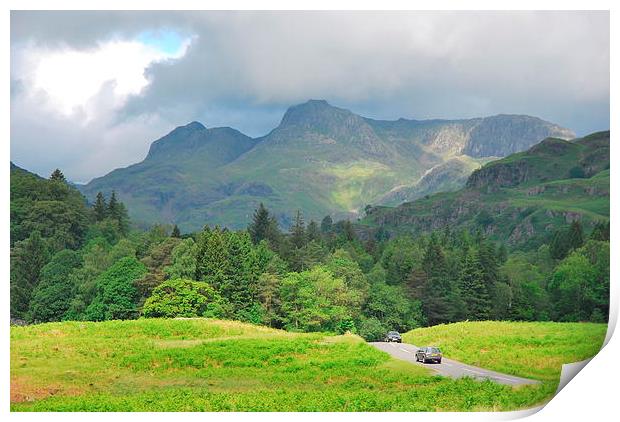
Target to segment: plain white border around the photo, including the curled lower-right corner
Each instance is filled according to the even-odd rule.
[[[139,9],[153,9],[153,10],[233,10],[233,9],[250,9],[250,10],[611,10],[610,13],[610,29],[611,29],[611,69],[615,69],[615,72],[611,72],[611,130],[615,133],[617,129],[617,105],[615,99],[618,97],[618,84],[617,73],[618,66],[616,65],[616,50],[617,38],[618,38],[618,24],[620,19],[617,17],[617,11],[620,6],[616,6],[613,1],[604,0],[590,0],[590,1],[533,1],[533,0],[504,0],[489,1],[489,0],[439,0],[439,1],[382,1],[382,2],[370,2],[365,0],[358,1],[339,1],[339,0],[315,0],[315,1],[275,1],[275,0],[263,0],[260,2],[249,0],[230,0],[230,1],[197,1],[197,0],[176,0],[174,2],[165,2],[161,0],[90,0],[88,2],[79,0],[57,0],[53,4],[49,1],[43,0],[8,0],[4,1],[4,13],[0,17],[0,31],[2,33],[2,70],[0,84],[0,94],[2,95],[1,117],[0,122],[2,128],[2,148],[1,154],[4,159],[3,171],[0,172],[2,177],[2,192],[4,200],[4,208],[2,208],[2,216],[0,219],[4,221],[2,227],[3,243],[0,256],[2,256],[2,268],[4,270],[4,294],[0,295],[0,301],[2,303],[3,316],[2,323],[0,323],[0,341],[2,342],[2,348],[0,349],[2,359],[2,388],[0,388],[0,406],[2,412],[8,413],[9,410],[9,294],[8,294],[8,274],[9,274],[9,148],[10,148],[10,134],[9,134],[9,110],[10,110],[10,94],[9,94],[9,10],[139,10]],[[570,30],[569,28],[567,30]],[[612,141],[612,166],[618,163],[617,155],[618,148],[614,146]],[[1,161],[0,161],[1,162]],[[613,215],[614,223],[616,222],[617,207],[615,198],[618,197],[618,175],[617,171],[612,172],[611,178],[611,215]],[[612,237],[615,241],[620,239],[618,237],[620,229],[616,224],[612,224]],[[612,242],[611,256],[620,256],[616,252],[615,242]],[[575,419],[591,419],[594,420],[609,420],[613,418],[613,414],[617,414],[618,399],[617,390],[615,389],[616,377],[620,375],[620,365],[618,364],[617,356],[620,356],[620,346],[618,345],[617,338],[610,335],[615,326],[618,316],[618,280],[616,274],[618,273],[617,261],[612,260],[611,274],[612,274],[612,301],[611,301],[611,321],[610,330],[608,332],[609,341],[606,347],[595,356],[592,361],[587,365],[585,370],[581,371],[573,381],[571,381],[551,402],[544,407],[538,413],[532,415],[531,420],[575,420]],[[616,336],[617,337],[617,336]],[[186,420],[231,420],[242,418],[249,420],[269,420],[269,421],[290,421],[291,418],[295,420],[315,420],[318,416],[320,418],[327,419],[349,419],[356,421],[373,421],[377,418],[390,418],[402,421],[410,421],[413,418],[423,418],[425,420],[501,420],[501,419],[514,419],[515,417],[522,417],[531,414],[532,411],[522,412],[509,412],[509,413],[420,413],[420,414],[408,414],[408,413],[390,413],[390,414],[369,414],[369,413],[354,413],[354,414],[337,414],[337,413],[323,413],[320,416],[313,413],[306,414],[238,414],[238,413],[219,413],[219,414],[182,414],[182,415],[169,415],[169,414],[88,414],[83,415],[79,413],[73,414],[10,414],[9,417],[15,420],[30,420],[45,418],[50,421],[65,421],[65,420],[82,420],[83,418],[94,418],[95,420],[107,420],[110,417],[120,419],[136,420],[142,418],[149,418],[151,420],[164,421],[170,418],[183,418]]]

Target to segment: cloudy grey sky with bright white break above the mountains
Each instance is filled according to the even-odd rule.
[[[249,136],[326,99],[379,119],[609,128],[609,13],[11,12],[11,160],[88,182],[197,120]]]

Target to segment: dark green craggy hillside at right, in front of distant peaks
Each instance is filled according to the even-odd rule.
[[[609,131],[568,142],[547,138],[527,151],[475,170],[464,188],[398,207],[374,207],[358,229],[371,235],[435,229],[482,230],[512,247],[548,240],[579,220],[609,221]]]

